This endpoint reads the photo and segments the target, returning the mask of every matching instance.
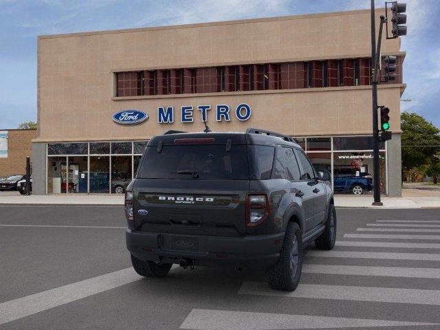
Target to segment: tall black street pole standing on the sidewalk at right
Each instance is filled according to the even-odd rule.
[[[382,24],[381,24],[382,26]],[[380,60],[380,59],[379,59]],[[380,164],[379,164],[379,130],[377,129],[377,67],[376,61],[376,24],[375,24],[375,7],[374,0],[371,0],[371,65],[375,67],[373,72],[373,80],[371,82],[372,98],[373,98],[373,184],[374,184],[374,201],[373,205],[384,205],[380,201]]]

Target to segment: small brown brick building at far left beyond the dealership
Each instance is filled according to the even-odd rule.
[[[31,141],[36,137],[36,130],[13,129],[6,131],[8,131],[8,157],[0,158],[0,177],[25,174],[26,156],[30,156],[32,162]]]

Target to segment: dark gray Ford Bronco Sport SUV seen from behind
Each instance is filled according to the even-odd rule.
[[[182,267],[265,271],[294,291],[303,248],[331,250],[336,211],[328,173],[292,137],[168,131],[153,137],[126,189],[126,246],[135,271]]]

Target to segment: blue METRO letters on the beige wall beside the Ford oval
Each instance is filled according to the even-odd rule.
[[[192,105],[183,105],[180,107],[180,122],[194,122],[194,109],[200,111],[201,121],[206,122],[208,117],[208,111],[211,110],[210,105],[197,105],[196,108]],[[240,121],[245,121],[250,118],[252,109],[250,105],[241,103],[235,107],[233,115]],[[228,104],[217,104],[215,106],[215,116],[217,122],[231,120],[231,108]],[[174,107],[158,107],[157,108],[157,122],[159,124],[170,124],[174,122]]]

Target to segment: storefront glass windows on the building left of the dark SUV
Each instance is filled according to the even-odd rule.
[[[47,144],[48,194],[122,194],[148,141]]]

